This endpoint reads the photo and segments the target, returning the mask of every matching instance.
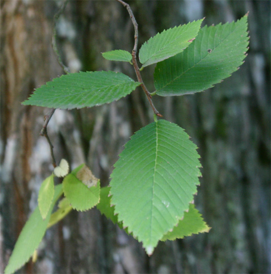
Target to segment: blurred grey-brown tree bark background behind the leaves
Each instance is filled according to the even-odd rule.
[[[53,170],[49,146],[39,136],[48,109],[20,103],[34,88],[63,74],[51,47],[53,17],[62,1],[1,1],[1,233],[3,273],[41,182]],[[18,273],[270,273],[270,2],[129,1],[140,45],[164,29],[206,17],[203,25],[240,19],[249,11],[245,63],[222,83],[195,95],[153,101],[168,121],[186,129],[203,165],[196,207],[209,233],[159,243],[148,257],[99,211],[72,211],[46,232],[35,264]],[[134,29],[115,1],[69,1],[56,25],[60,57],[71,72],[122,71],[129,63],[101,52],[131,52]],[[153,92],[155,65],[142,71]],[[56,110],[48,125],[56,160],[87,163],[109,184],[123,145],[153,121],[147,99],[136,92],[101,107]]]

